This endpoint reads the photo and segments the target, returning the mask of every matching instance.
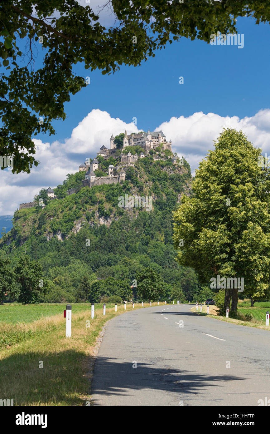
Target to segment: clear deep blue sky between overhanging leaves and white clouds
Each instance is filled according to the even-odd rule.
[[[251,18],[240,18],[237,27],[244,34],[243,49],[182,38],[141,66],[121,66],[110,76],[77,65],[74,71],[89,75],[91,83],[65,104],[68,118],[54,123],[55,138],[69,137],[91,109],[105,110],[127,123],[135,116],[138,128],[151,130],[172,116],[202,111],[243,118],[268,108],[269,24],[258,26]],[[183,85],[179,76],[184,77]]]

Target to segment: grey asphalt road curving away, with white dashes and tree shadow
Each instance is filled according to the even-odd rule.
[[[94,366],[92,404],[258,406],[270,399],[270,332],[191,307],[155,306],[112,319]]]

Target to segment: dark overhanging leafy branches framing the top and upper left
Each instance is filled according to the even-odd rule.
[[[108,74],[122,64],[140,65],[173,39],[209,43],[218,31],[235,33],[237,16],[270,20],[269,2],[261,0],[109,0],[104,7],[115,16],[108,28],[76,0],[1,2],[0,66],[7,72],[0,75],[0,154],[13,155],[13,173],[38,165],[33,136],[54,134],[52,121],[66,117],[64,103],[88,85],[89,73],[76,75],[75,64]]]

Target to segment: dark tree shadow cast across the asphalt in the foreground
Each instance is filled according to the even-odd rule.
[[[235,375],[198,375],[193,371],[181,371],[171,368],[153,368],[153,365],[134,362],[117,363],[114,358],[98,357],[94,367],[94,379],[91,394],[129,396],[132,390],[151,389],[181,394],[197,394],[206,386],[221,387],[226,381],[243,381]],[[221,391],[222,393],[222,391]],[[153,393],[153,399],[154,398]],[[222,401],[216,400],[217,403]],[[93,405],[99,405],[94,397]]]

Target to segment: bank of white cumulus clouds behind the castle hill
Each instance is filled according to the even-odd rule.
[[[172,139],[172,151],[186,158],[194,174],[208,149],[214,148],[213,140],[218,138],[222,127],[242,129],[254,146],[270,155],[270,109],[243,119],[199,112],[189,117],[173,117],[155,130],[162,129],[167,140]],[[33,139],[35,158],[40,161],[38,167],[33,167],[30,174],[0,171],[0,215],[13,214],[20,203],[32,201],[42,187],[54,188],[62,183],[68,173],[78,171],[85,158],[96,156],[102,145],[109,148],[111,134],[115,136],[125,128],[128,134],[141,131],[132,122],[111,118],[109,113],[94,109],[64,142],[53,141],[50,144]]]

